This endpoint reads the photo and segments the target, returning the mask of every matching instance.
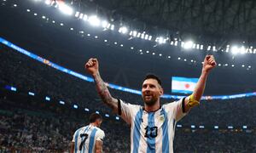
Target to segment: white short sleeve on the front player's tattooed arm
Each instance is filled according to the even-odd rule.
[[[119,99],[119,116],[121,116],[128,124],[131,124],[132,118],[136,115],[136,112],[140,109],[140,107],[140,105],[131,105],[130,103],[125,103]]]

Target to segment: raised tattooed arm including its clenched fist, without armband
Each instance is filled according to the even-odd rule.
[[[99,72],[99,63],[97,59],[89,59],[84,65],[86,71],[90,73],[96,82],[96,90],[102,101],[108,105],[114,113],[118,113],[118,99],[114,99],[108,91],[108,87],[105,82],[103,82],[102,77]]]

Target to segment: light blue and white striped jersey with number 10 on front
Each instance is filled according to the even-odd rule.
[[[147,112],[141,105],[119,100],[119,115],[131,125],[131,153],[173,152],[175,126],[183,113],[183,99]]]

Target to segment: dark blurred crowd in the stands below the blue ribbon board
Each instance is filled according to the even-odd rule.
[[[106,133],[104,152],[130,151],[129,126],[114,119],[115,115],[96,94],[93,82],[84,82],[3,46],[0,60],[1,92],[5,85],[18,90],[17,98],[13,94],[1,95],[0,152],[68,152],[73,132],[88,123],[93,111],[112,116],[104,117],[102,124]],[[31,99],[28,91],[35,93],[38,99]],[[113,89],[110,92],[131,104],[143,105],[140,95]],[[42,99],[45,96],[53,102],[45,102]],[[59,105],[59,100],[66,105]],[[161,103],[173,100],[161,99]],[[183,127],[176,129],[175,152],[255,152],[255,102],[256,98],[202,101],[178,122]],[[79,105],[79,109],[72,109],[73,104]],[[89,108],[90,112],[85,112],[84,108]],[[192,124],[206,128],[191,129]],[[214,130],[215,125],[224,130]],[[236,130],[244,125],[247,130]],[[235,129],[228,130],[228,126]]]

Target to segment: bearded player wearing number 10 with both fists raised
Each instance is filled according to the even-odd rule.
[[[193,94],[166,105],[160,105],[160,96],[164,94],[160,79],[154,75],[146,76],[142,87],[144,106],[113,98],[102,81],[97,59],[89,59],[85,69],[94,77],[102,101],[131,125],[131,152],[137,153],[173,152],[175,125],[192,107],[200,104],[207,76],[215,66],[214,57],[207,55]]]

